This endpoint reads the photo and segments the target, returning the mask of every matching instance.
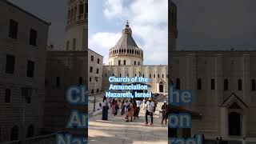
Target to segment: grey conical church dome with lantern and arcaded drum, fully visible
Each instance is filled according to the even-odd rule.
[[[143,50],[138,47],[132,37],[129,23],[122,30],[122,37],[110,49],[109,65],[142,65]]]

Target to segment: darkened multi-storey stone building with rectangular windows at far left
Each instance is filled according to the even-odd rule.
[[[0,142],[6,142],[42,128],[50,23],[6,0],[0,17]]]

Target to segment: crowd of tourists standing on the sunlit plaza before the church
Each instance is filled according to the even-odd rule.
[[[102,109],[102,120],[108,120],[108,112],[111,112],[114,116],[123,115],[126,122],[133,122],[138,119],[138,115],[141,110],[145,111],[146,125],[153,125],[154,113],[158,102],[154,98],[106,98],[103,97],[102,102],[99,104]],[[162,123],[167,124],[168,118],[168,106],[167,102],[164,101],[162,108]],[[148,122],[148,117],[150,117],[150,123]]]

